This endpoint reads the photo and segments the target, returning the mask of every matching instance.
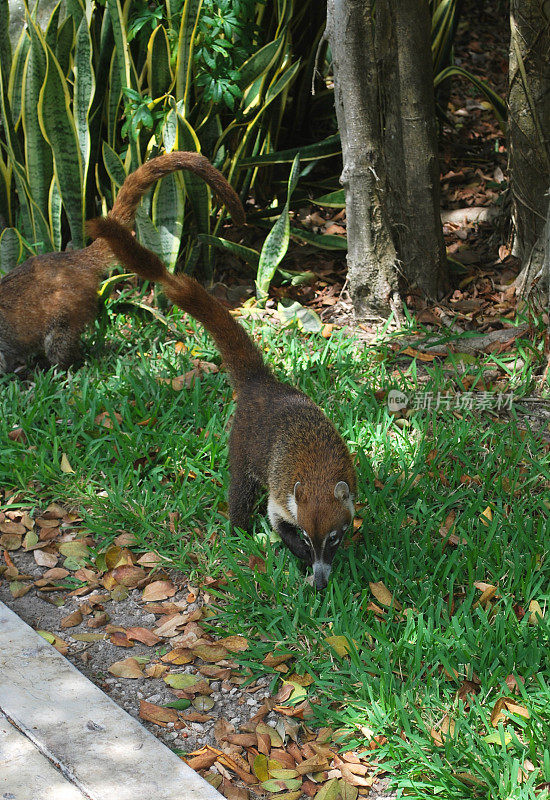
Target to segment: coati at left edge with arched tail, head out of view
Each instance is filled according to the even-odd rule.
[[[133,226],[141,197],[164,175],[185,169],[203,178],[242,225],[244,209],[223,175],[199,153],[176,151],[152,158],[124,181],[110,212]],[[27,259],[0,281],[0,375],[27,356],[44,353],[50,364],[67,368],[80,357],[80,335],[97,316],[98,288],[111,266],[105,242],[83,250],[46,253]]]

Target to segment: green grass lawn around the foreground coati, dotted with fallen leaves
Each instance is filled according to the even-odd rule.
[[[279,674],[261,661],[274,649],[292,652],[291,671],[314,678],[307,692],[315,722],[338,729],[346,747],[384,737],[373,756],[408,796],[543,796],[536,787],[550,781],[550,457],[540,437],[487,412],[416,413],[400,428],[375,392],[417,389],[410,359],[340,334],[325,341],[256,326],[277,374],[327,409],[357,454],[363,525],[318,594],[281,545],[265,549],[260,514],[253,538],[230,531],[231,389],[221,372],[179,392],[166,382],[191,370],[193,358],[219,363],[200,328],[172,319],[183,353],[158,321],[120,316],[101,356],[91,348],[72,375],[0,379],[0,488],[36,505],[56,499],[84,509],[98,551],[131,531],[138,550],[157,549],[193,581],[231,571],[213,622],[249,638],[243,667],[272,674],[276,685]],[[486,356],[461,374],[479,380],[500,359],[509,386],[527,394],[541,353],[524,351],[520,368]],[[452,364],[427,370],[422,391],[444,392],[457,376]],[[120,415],[111,430],[95,422],[104,411]],[[26,443],[8,440],[15,426]],[[74,473],[62,472],[63,453]],[[493,519],[484,525],[487,506]],[[456,547],[439,533],[450,511],[464,540]],[[248,566],[251,554],[266,560],[265,575]],[[404,611],[393,607],[380,619],[369,610],[375,581]],[[476,581],[498,586],[486,607],[476,605]],[[532,600],[544,611],[537,624],[529,624]],[[338,656],[329,636],[345,637],[349,652]],[[509,715],[494,728],[491,711],[510,696],[510,675],[530,716]],[[475,694],[459,699],[466,680]],[[437,747],[430,729],[446,716],[454,729]]]

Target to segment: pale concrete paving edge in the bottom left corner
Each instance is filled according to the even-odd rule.
[[[3,603],[0,675],[0,711],[11,723],[1,728],[7,732],[0,737],[0,764],[9,761],[8,742],[12,753],[14,747],[28,750],[15,729],[38,751],[35,758],[21,758],[21,781],[15,788],[30,788],[43,764],[41,754],[58,771],[60,783],[63,776],[89,800],[222,797]],[[4,797],[16,800],[49,797],[13,789],[6,795],[8,789],[2,789]]]

